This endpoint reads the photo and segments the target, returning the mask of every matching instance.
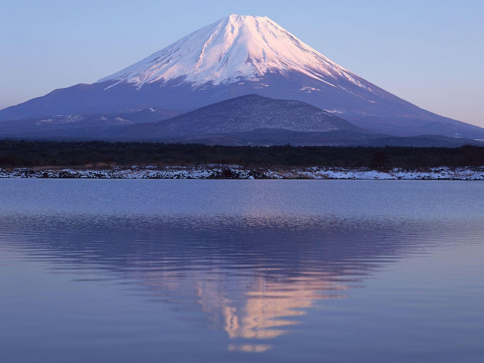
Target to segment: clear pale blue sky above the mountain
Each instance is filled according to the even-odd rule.
[[[1,0],[0,108],[95,82],[232,13],[269,16],[377,86],[484,127],[484,0]]]

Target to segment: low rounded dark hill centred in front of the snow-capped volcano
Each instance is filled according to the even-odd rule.
[[[116,130],[112,136],[130,139],[163,139],[219,135],[256,129],[327,132],[352,130],[367,133],[346,120],[300,101],[274,100],[246,95],[204,106],[156,123]]]

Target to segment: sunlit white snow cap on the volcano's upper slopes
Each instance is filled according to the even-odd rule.
[[[268,17],[232,14],[98,82],[125,80],[136,85],[186,77],[202,85],[257,80],[274,72],[297,71],[322,82],[356,76],[302,43]],[[337,87],[336,85],[333,85]]]

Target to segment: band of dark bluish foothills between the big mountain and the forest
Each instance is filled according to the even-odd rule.
[[[259,95],[235,97],[171,117],[175,111],[148,107],[104,115],[57,115],[0,122],[0,137],[29,140],[110,140],[209,145],[433,146],[483,145],[459,137],[452,124],[431,122],[424,135],[375,134],[318,107]],[[431,135],[446,131],[450,136]],[[453,134],[455,134],[453,136]]]

